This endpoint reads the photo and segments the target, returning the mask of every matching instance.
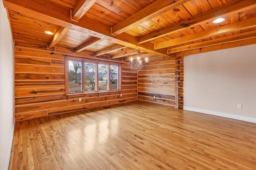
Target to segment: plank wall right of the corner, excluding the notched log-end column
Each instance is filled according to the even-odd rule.
[[[175,71],[175,60],[149,61],[138,70],[138,100],[175,107]]]

